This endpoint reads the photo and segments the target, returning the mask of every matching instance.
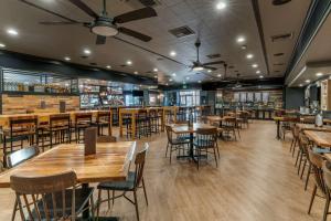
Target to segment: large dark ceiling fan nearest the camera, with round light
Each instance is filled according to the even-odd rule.
[[[131,29],[118,27],[117,24],[158,15],[154,9],[152,9],[150,7],[146,7],[146,8],[130,11],[130,12],[127,12],[127,13],[124,13],[124,14],[120,14],[117,17],[110,17],[107,13],[106,0],[103,0],[102,13],[97,14],[87,4],[85,4],[82,0],[68,0],[68,2],[76,6],[77,8],[79,8],[82,11],[87,13],[89,17],[94,18],[94,20],[92,22],[79,22],[79,21],[75,21],[73,19],[66,18],[56,12],[53,12],[49,9],[44,9],[44,8],[36,6],[34,3],[31,3],[26,0],[20,0],[20,1],[23,3],[26,3],[31,7],[38,8],[44,12],[51,13],[53,15],[56,15],[61,19],[66,20],[66,21],[45,21],[45,22],[40,22],[40,24],[44,24],[44,25],[82,24],[83,27],[88,28],[92,33],[95,33],[97,35],[96,44],[105,44],[107,36],[115,36],[118,33],[122,33],[122,34],[139,39],[143,42],[149,42],[152,39],[151,36],[148,36],[140,32],[134,31]]]

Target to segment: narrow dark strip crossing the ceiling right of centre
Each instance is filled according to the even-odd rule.
[[[269,66],[269,60],[268,60],[268,54],[267,54],[264,28],[263,28],[261,19],[260,19],[258,0],[252,0],[252,6],[253,6],[253,10],[254,10],[254,15],[255,15],[255,20],[256,20],[256,24],[257,24],[257,29],[258,29],[260,43],[261,43],[261,46],[263,46],[264,59],[265,59],[266,66],[267,66],[267,73],[269,75],[270,74],[270,66]]]

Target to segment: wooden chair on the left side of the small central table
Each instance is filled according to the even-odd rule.
[[[185,146],[190,145],[190,139],[183,138],[182,136],[173,137],[173,130],[170,125],[166,125],[166,133],[167,133],[167,149],[166,149],[166,157],[168,156],[168,150],[170,152],[170,164],[171,164],[171,156],[173,151],[180,151],[184,152],[188,150]]]

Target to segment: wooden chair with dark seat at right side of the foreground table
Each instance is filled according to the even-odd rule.
[[[146,192],[146,186],[145,186],[145,180],[143,180],[143,168],[145,168],[145,162],[146,162],[146,154],[148,151],[149,145],[146,143],[143,150],[139,151],[136,155],[135,159],[135,171],[129,171],[127,179],[125,181],[109,181],[109,182],[100,182],[97,186],[98,189],[98,201],[97,201],[97,217],[99,215],[99,209],[100,204],[105,201],[108,201],[108,207],[109,207],[109,201],[114,200],[120,197],[124,197],[127,199],[129,202],[135,204],[136,207],[136,215],[137,220],[139,221],[139,209],[138,209],[138,201],[137,201],[137,190],[138,188],[143,189],[143,194],[145,194],[145,200],[146,204],[148,206],[148,199],[147,199],[147,192]],[[102,199],[102,190],[110,190],[113,191],[113,197],[110,198],[108,194],[108,198],[106,200]],[[119,196],[115,196],[115,191],[121,191],[122,193]],[[134,200],[128,198],[126,196],[127,192],[134,192]]]

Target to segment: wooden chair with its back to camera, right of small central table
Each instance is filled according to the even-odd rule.
[[[217,128],[197,128],[195,133],[195,138],[193,141],[193,146],[195,151],[197,151],[197,169],[200,166],[200,161],[202,158],[202,152],[205,152],[207,158],[207,154],[213,154],[216,162],[216,167],[218,166],[218,159],[216,151],[218,152],[217,144]],[[212,151],[210,151],[212,149]]]

